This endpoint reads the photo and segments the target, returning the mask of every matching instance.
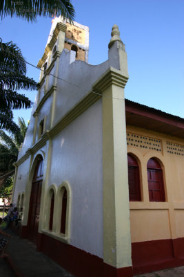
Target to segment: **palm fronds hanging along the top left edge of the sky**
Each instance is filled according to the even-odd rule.
[[[62,15],[70,21],[74,19],[74,7],[70,0],[1,0],[0,1],[0,16],[16,15],[27,21],[36,21],[38,15],[43,17],[52,17],[53,15]]]

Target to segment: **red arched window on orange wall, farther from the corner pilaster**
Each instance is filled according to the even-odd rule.
[[[163,171],[159,161],[154,158],[147,162],[147,181],[150,202],[165,202]]]

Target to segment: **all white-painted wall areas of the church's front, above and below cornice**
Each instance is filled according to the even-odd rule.
[[[119,69],[119,48],[116,43],[111,48],[109,60],[103,64],[93,66],[86,62],[76,60],[70,64],[70,51],[63,50],[59,57],[59,78],[57,80],[56,106],[54,109],[54,123],[59,122],[65,114],[72,109],[91,89],[96,80],[99,79],[110,66]],[[114,61],[115,58],[115,61]],[[52,73],[55,71],[52,69]],[[48,88],[54,84],[54,78],[47,77],[41,88],[41,98]],[[48,85],[48,88],[47,88]],[[47,116],[45,129],[50,129],[50,108],[52,106],[50,96],[41,107],[37,123],[38,141],[39,122]],[[34,104],[32,114],[37,107]],[[31,118],[30,126],[19,154],[19,159],[28,148],[32,147],[35,118]],[[49,143],[47,143],[48,145]],[[49,148],[50,149],[50,148]],[[44,150],[43,150],[44,151]],[[45,146],[45,165],[47,165],[47,147]],[[34,157],[38,153],[34,154]],[[14,201],[17,201],[19,193],[28,188],[25,195],[26,213],[28,215],[28,204],[31,180],[28,170],[30,158],[19,166],[17,181],[14,190]],[[70,243],[74,247],[83,249],[100,258],[103,258],[103,164],[102,164],[102,101],[98,100],[83,114],[78,116],[70,125],[65,127],[52,139],[52,154],[50,157],[50,175],[47,180],[43,176],[45,186],[55,184],[57,187],[63,181],[68,181],[72,192],[72,213],[70,227]],[[46,172],[46,168],[44,168]],[[18,177],[21,175],[21,179]],[[48,189],[48,188],[47,188]],[[43,207],[44,209],[44,207]],[[26,224],[26,218],[24,224]],[[60,218],[58,219],[61,220]]]

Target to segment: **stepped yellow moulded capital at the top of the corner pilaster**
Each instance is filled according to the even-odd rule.
[[[102,93],[112,84],[124,89],[127,80],[128,78],[122,75],[121,71],[110,67],[107,71],[105,71],[101,78],[93,84],[92,89],[96,92],[100,91]]]

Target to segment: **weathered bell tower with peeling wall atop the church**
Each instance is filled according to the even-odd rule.
[[[64,48],[74,51],[75,60],[88,62],[89,28],[75,21],[70,23],[63,17],[54,17],[45,52],[39,60],[38,67],[46,71],[54,55],[61,54]]]

